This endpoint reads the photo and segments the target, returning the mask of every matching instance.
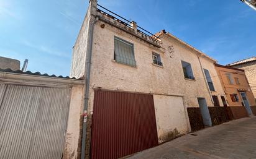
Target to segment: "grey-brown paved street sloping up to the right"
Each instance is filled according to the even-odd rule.
[[[129,158],[256,158],[256,117],[237,119],[192,134]]]

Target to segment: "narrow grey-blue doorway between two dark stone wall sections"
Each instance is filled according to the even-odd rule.
[[[208,106],[205,98],[198,98],[199,108],[202,114],[204,126],[212,126],[211,115],[208,110]]]

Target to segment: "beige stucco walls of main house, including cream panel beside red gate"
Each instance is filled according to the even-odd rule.
[[[109,17],[106,18],[111,20]],[[85,24],[86,22],[83,25]],[[178,40],[170,33],[161,32],[159,35],[161,43],[152,45],[132,33],[124,32],[115,24],[111,25],[96,19],[94,25],[88,102],[90,114],[93,114],[94,88],[150,93],[155,100],[158,140],[163,142],[171,136],[171,133],[176,136],[190,131],[186,108],[198,107],[198,98],[206,98],[208,106],[213,106],[211,95],[217,95],[221,101],[220,96],[224,95],[224,91],[219,79],[214,78],[217,75],[214,59]],[[80,58],[86,56],[84,52],[86,43],[83,40],[86,40],[88,33],[82,32],[80,31],[73,50],[71,75],[75,77],[81,77],[85,72],[85,60],[80,61]],[[114,60],[114,37],[133,44],[135,67]],[[169,46],[172,46],[174,51],[171,54]],[[163,66],[153,64],[152,53],[160,54]],[[191,64],[194,80],[185,78],[181,61]],[[209,91],[203,69],[208,69],[213,76],[214,92]],[[220,104],[222,106],[221,102]]]

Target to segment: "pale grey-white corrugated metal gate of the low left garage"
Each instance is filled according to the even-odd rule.
[[[69,88],[0,85],[0,158],[62,158]]]

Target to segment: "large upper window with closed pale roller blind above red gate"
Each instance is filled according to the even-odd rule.
[[[129,66],[136,66],[134,45],[126,40],[114,37],[114,60]]]

